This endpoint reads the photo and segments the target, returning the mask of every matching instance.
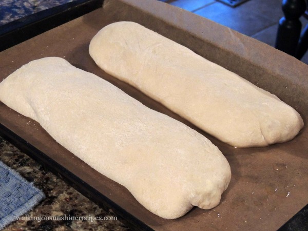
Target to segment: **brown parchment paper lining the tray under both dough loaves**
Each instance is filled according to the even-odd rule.
[[[134,21],[171,38],[208,60],[240,74],[290,104],[305,126],[292,141],[263,148],[224,144],[131,86],[104,73],[91,60],[88,46],[103,26]],[[39,124],[0,102],[0,123],[66,167],[76,176],[156,230],[276,230],[308,202],[308,67],[253,38],[155,0],[109,0],[102,9],[0,53],[0,81],[41,57],[60,56],[121,88],[146,106],[196,129],[217,145],[232,168],[221,203],[211,210],[192,209],[165,220],[142,207],[121,185],[98,174],[57,144]]]

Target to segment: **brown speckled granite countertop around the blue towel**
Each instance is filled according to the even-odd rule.
[[[29,217],[117,217],[111,210],[105,211],[48,169],[0,137],[0,160],[19,172],[25,179],[43,190],[46,199],[27,214]],[[114,219],[114,218],[113,218]],[[48,220],[15,221],[4,230],[130,230],[119,220]]]

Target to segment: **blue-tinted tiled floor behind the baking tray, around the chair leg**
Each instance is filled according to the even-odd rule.
[[[163,0],[245,35],[275,46],[278,22],[283,16],[281,0],[249,0],[235,8],[215,0]],[[308,21],[301,17],[302,25]],[[301,60],[308,64],[308,52]]]

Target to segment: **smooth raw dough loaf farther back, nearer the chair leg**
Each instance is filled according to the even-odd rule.
[[[104,27],[89,52],[107,73],[235,147],[285,142],[303,127],[275,95],[137,23]]]

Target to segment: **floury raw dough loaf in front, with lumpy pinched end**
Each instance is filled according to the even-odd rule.
[[[230,181],[227,160],[200,133],[59,57],[9,75],[0,100],[163,218],[213,208]]]

